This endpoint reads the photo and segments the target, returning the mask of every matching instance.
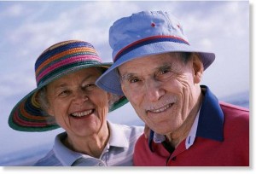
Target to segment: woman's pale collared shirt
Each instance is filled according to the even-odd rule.
[[[131,166],[133,148],[137,138],[143,134],[142,126],[117,125],[108,122],[110,136],[99,159],[67,148],[61,139],[63,132],[55,137],[52,150],[35,164],[37,166]]]

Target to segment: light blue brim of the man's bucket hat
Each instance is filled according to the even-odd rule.
[[[136,49],[132,49],[130,52],[122,55],[117,61],[113,63],[108,70],[102,74],[100,78],[96,80],[96,84],[103,90],[123,96],[124,93],[121,89],[119,81],[119,75],[116,72],[116,68],[123,65],[127,61],[131,61],[146,55],[159,55],[168,52],[195,52],[201,55],[201,61],[204,66],[204,70],[209,67],[215,60],[213,53],[201,52],[198,49],[191,47],[189,44],[179,44],[173,42],[158,42],[153,44],[145,44]]]

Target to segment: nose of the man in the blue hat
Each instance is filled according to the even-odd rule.
[[[165,94],[165,90],[161,88],[160,82],[156,79],[148,79],[145,85],[145,96],[149,102],[157,102]]]

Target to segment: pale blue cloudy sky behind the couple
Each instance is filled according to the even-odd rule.
[[[69,39],[95,46],[103,61],[112,61],[108,29],[113,21],[142,10],[165,10],[180,20],[189,43],[215,53],[204,73],[219,98],[249,98],[250,32],[248,1],[84,1],[0,2],[0,157],[39,145],[51,146],[61,129],[20,132],[8,126],[11,109],[35,89],[34,63],[44,49]],[[130,104],[108,116],[113,122],[142,124]]]

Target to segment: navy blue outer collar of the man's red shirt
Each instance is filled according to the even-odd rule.
[[[206,85],[201,85],[201,92],[204,98],[201,104],[196,136],[222,142],[224,140],[224,113],[219,106],[218,98],[212,94]],[[148,146],[151,151],[153,151],[151,146],[153,137],[154,131],[150,131]]]

